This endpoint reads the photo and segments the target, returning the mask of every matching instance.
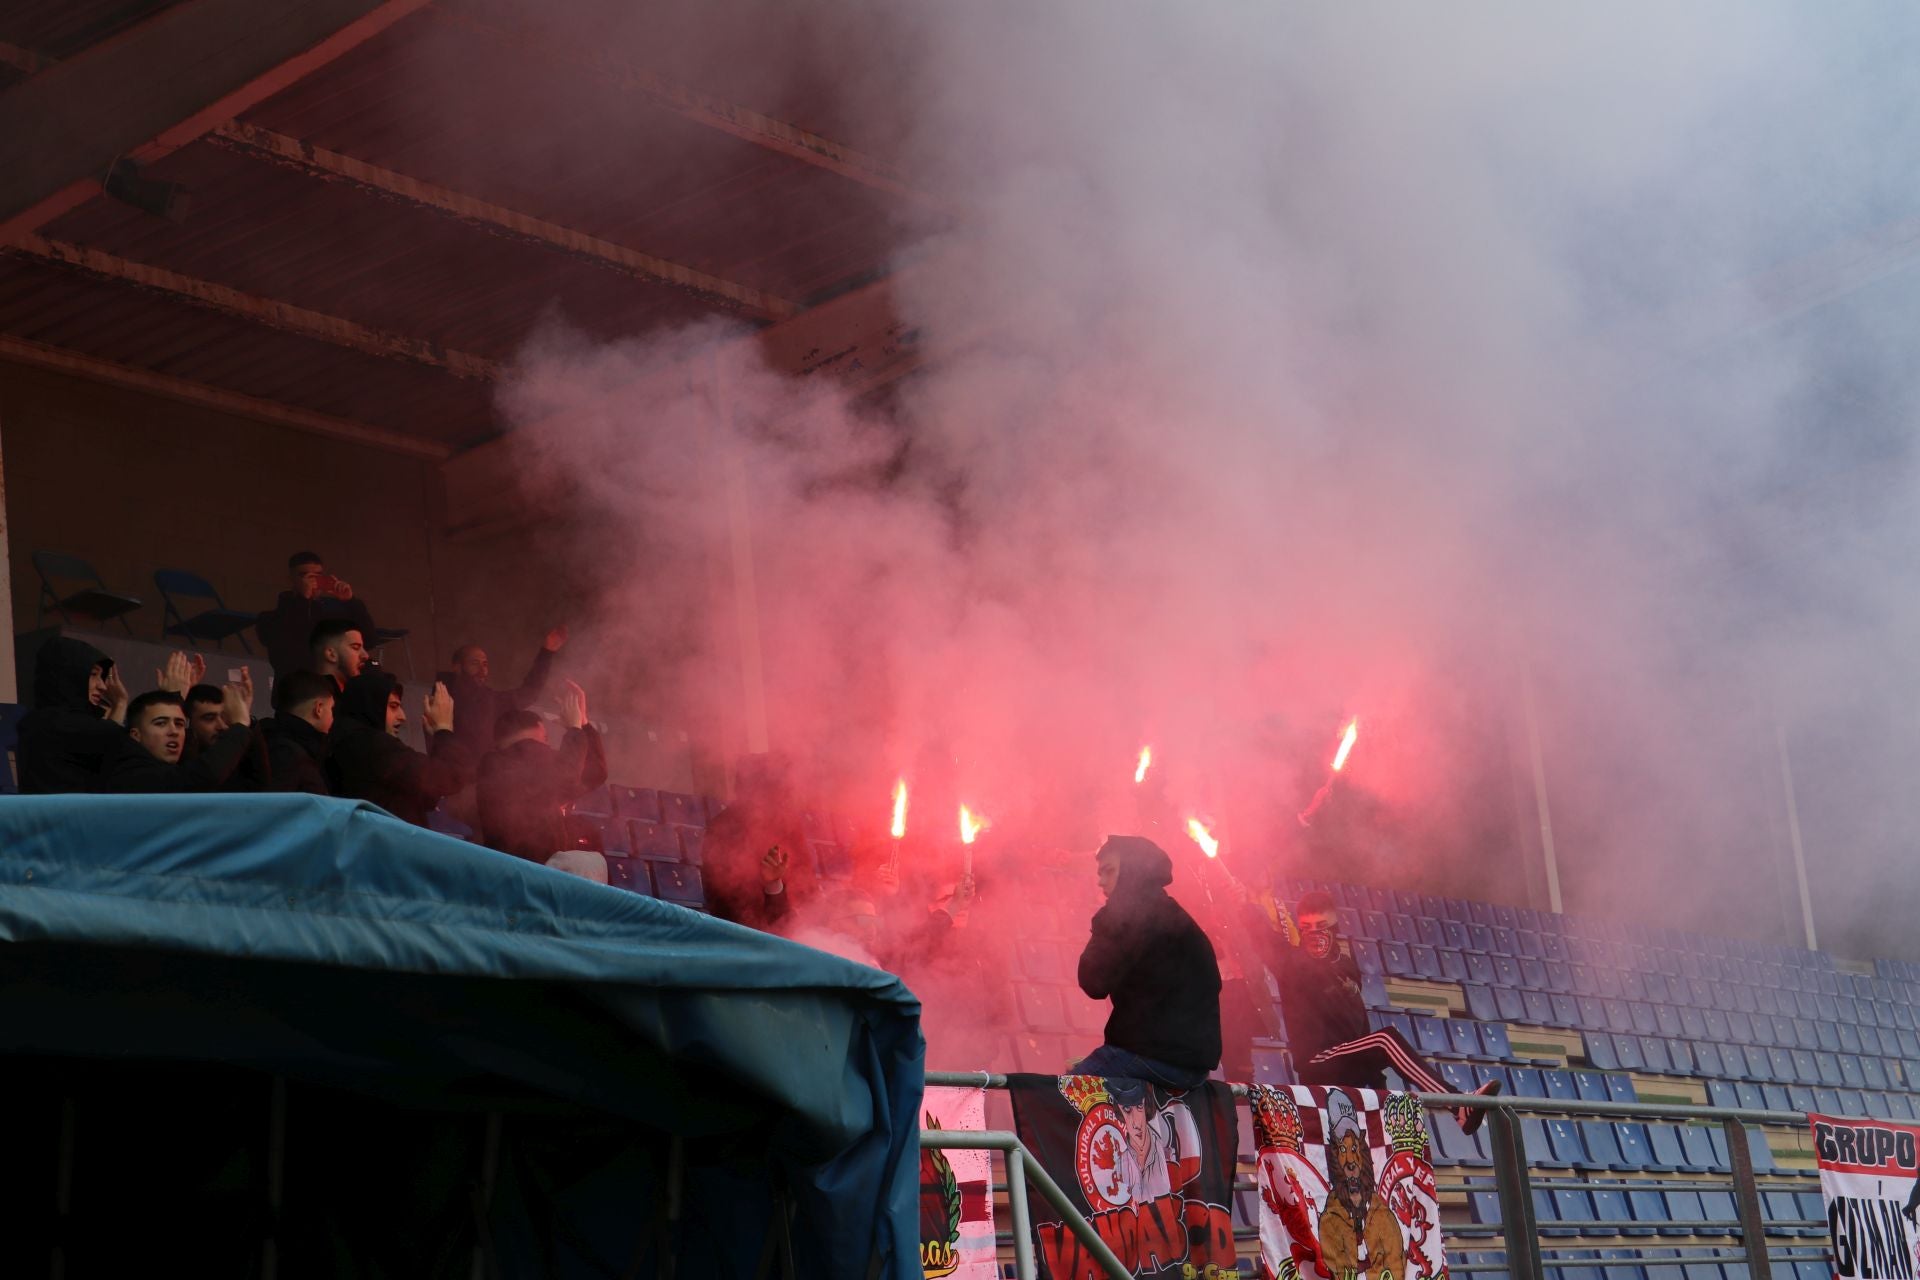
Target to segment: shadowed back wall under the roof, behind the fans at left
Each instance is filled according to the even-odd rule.
[[[286,557],[311,549],[380,626],[413,631],[422,674],[442,649],[432,462],[15,365],[0,365],[0,457],[15,631],[36,626],[35,549],[92,560],[108,587],[142,597],[127,618],[142,639],[165,616],[156,568],[267,608]],[[405,677],[397,645],[386,660]]]

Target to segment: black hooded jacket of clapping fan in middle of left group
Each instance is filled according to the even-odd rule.
[[[467,785],[470,770],[447,731],[426,741],[424,756],[386,731],[386,699],[397,683],[386,672],[361,672],[340,691],[326,739],[326,785],[336,796],[371,800],[424,827],[442,796]]]

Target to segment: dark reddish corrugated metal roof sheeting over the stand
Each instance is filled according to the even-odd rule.
[[[0,0],[0,40],[73,58],[163,8]],[[885,182],[697,123],[614,73],[584,73],[568,50],[503,40],[486,25],[503,12],[486,0],[428,8],[244,119],[718,276],[737,286],[732,299],[712,282],[666,284],[578,244],[509,234],[215,134],[148,169],[190,190],[182,221],[96,198],[38,228],[48,251],[73,246],[84,263],[0,253],[0,334],[459,447],[499,424],[493,386],[457,374],[511,361],[547,319],[628,338],[751,313],[741,297],[758,294],[804,303],[885,267],[906,221]],[[762,102],[801,109],[812,92],[787,84]],[[211,297],[182,296],[182,280]],[[280,305],[305,320],[288,322]],[[357,334],[396,353],[355,349]]]

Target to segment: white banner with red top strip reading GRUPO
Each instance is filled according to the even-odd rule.
[[[1809,1115],[1834,1276],[1920,1274],[1920,1128]]]

